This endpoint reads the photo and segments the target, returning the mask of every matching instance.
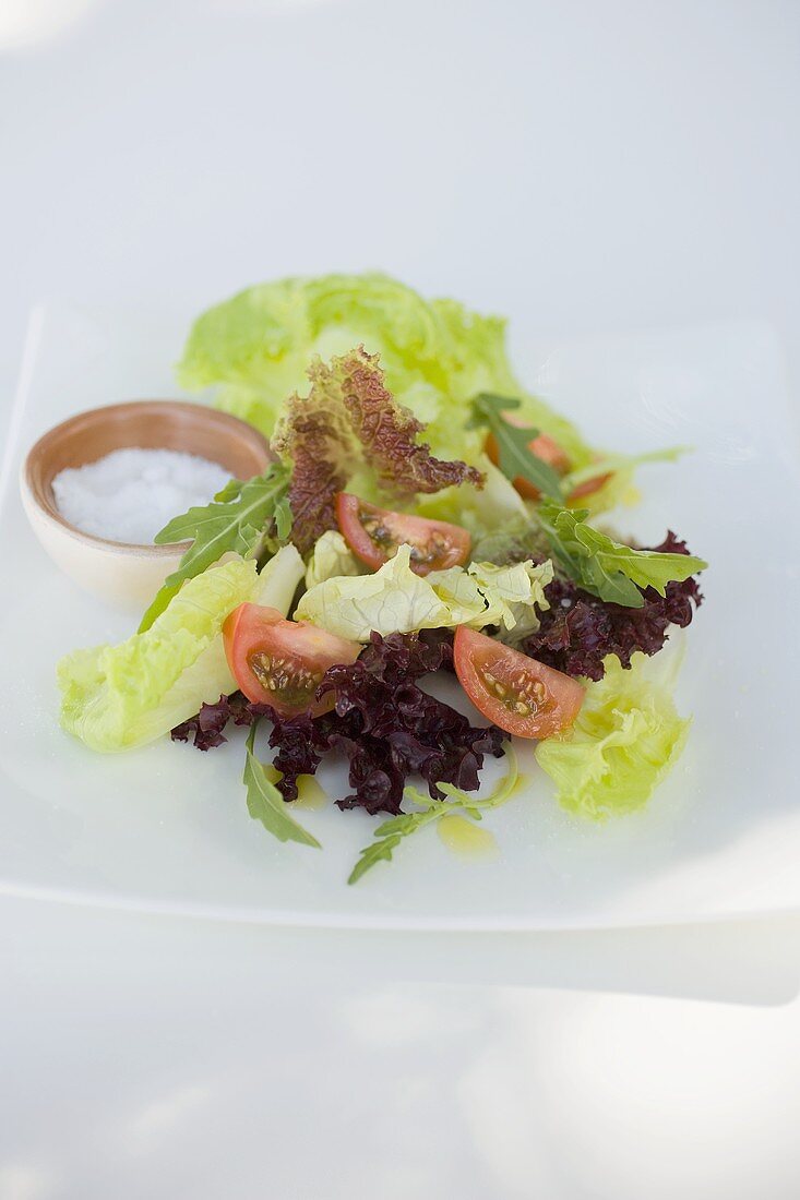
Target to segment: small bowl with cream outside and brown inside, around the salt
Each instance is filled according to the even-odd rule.
[[[259,475],[271,455],[267,439],[251,425],[180,400],[94,408],[56,425],[31,448],[19,487],[28,520],[47,553],[86,590],[143,608],[175,570],[187,542],[137,546],[96,538],[65,521],[53,496],[53,480],[66,467],[83,467],[132,446],[201,455],[237,479]]]

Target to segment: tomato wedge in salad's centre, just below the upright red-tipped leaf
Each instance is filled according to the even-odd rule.
[[[411,546],[411,569],[417,575],[460,566],[470,554],[471,538],[461,526],[390,512],[348,492],[336,497],[336,521],[352,552],[372,570],[393,558],[404,542]]]

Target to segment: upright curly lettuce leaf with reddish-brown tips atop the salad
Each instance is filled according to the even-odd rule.
[[[395,500],[453,484],[483,486],[474,467],[434,458],[430,446],[417,443],[424,425],[387,390],[377,354],[362,346],[330,362],[317,359],[309,379],[310,394],[289,397],[273,438],[292,467],[292,541],[303,553],[336,528],[336,493],[364,468],[377,491]]]

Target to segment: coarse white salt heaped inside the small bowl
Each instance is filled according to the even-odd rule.
[[[96,538],[150,545],[193,504],[208,504],[229,473],[178,450],[114,450],[53,480],[55,504],[71,524]]]

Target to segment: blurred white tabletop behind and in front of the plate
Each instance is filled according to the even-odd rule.
[[[371,265],[545,331],[766,318],[793,383],[799,66],[800,7],[756,0],[6,0],[0,403],[43,296],[189,319]],[[412,937],[6,899],[0,1198],[793,1200],[799,976],[793,917]]]

